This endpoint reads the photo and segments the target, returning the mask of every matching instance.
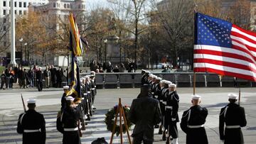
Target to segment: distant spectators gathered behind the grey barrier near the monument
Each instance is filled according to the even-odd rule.
[[[103,72],[136,72],[137,64],[135,62],[126,62],[120,63],[119,65],[112,65],[112,63],[104,62],[103,65],[101,63],[97,63],[95,60],[90,62],[90,70],[96,73],[103,73]]]

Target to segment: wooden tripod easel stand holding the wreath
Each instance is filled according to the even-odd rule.
[[[132,141],[131,141],[131,138],[130,138],[130,135],[129,135],[129,129],[128,129],[128,126],[127,126],[127,120],[125,118],[125,115],[124,115],[124,109],[123,109],[123,106],[122,106],[122,103],[121,103],[121,98],[119,98],[119,104],[118,104],[118,107],[117,107],[117,113],[116,113],[116,116],[114,118],[114,126],[113,126],[113,130],[112,130],[112,135],[111,135],[111,139],[110,139],[110,144],[112,144],[113,142],[113,137],[114,137],[114,130],[116,128],[116,124],[117,124],[117,116],[119,114],[119,128],[120,128],[120,140],[121,140],[121,144],[123,143],[123,131],[122,131],[122,118],[124,118],[124,126],[126,128],[126,131],[127,131],[127,136],[128,136],[128,139],[129,139],[129,144],[132,144]]]

